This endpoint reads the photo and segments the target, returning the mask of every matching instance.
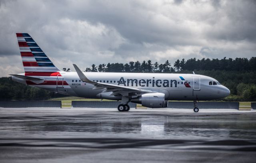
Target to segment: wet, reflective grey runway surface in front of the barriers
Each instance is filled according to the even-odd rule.
[[[0,108],[1,163],[255,160],[255,111]]]

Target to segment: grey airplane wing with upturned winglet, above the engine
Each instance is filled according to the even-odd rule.
[[[108,83],[90,81],[75,64],[73,64],[73,66],[76,69],[76,73],[78,74],[81,81],[93,84],[95,86],[93,89],[106,88],[106,90],[104,90],[103,92],[113,92],[112,94],[110,94],[110,95],[113,95],[113,96],[118,95],[118,94],[122,94],[121,92],[134,92],[134,93],[140,93],[140,94],[156,93],[156,92],[151,91],[151,90],[143,90],[143,89],[140,89],[140,88],[132,88],[132,87],[129,87],[129,86],[120,86],[120,85],[115,85],[115,84],[108,84]]]

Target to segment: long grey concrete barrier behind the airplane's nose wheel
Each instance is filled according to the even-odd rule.
[[[193,102],[169,102],[168,108],[194,109]],[[239,102],[198,102],[199,109],[236,109]]]

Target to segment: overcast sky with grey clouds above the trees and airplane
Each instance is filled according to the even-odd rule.
[[[256,56],[255,0],[0,0],[0,77],[23,73],[15,33],[60,69]]]

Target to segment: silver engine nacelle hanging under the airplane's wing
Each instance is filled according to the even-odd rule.
[[[166,108],[168,100],[164,100],[163,93],[146,93],[141,97],[132,98],[131,102],[141,104],[148,108]]]

